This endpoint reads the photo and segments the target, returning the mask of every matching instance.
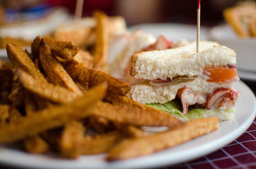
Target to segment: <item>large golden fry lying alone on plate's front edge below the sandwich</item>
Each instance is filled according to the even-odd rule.
[[[161,151],[214,131],[219,128],[219,123],[218,117],[194,119],[168,131],[127,139],[116,145],[109,152],[107,159],[113,161],[135,158]]]

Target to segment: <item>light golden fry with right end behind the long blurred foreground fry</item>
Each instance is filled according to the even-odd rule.
[[[70,103],[77,98],[77,96],[81,96],[63,87],[49,84],[48,82],[40,82],[40,80],[36,80],[25,71],[17,69],[15,74],[19,77],[25,89],[49,101],[55,103]]]

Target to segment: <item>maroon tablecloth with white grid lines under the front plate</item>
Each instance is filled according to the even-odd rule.
[[[245,82],[256,94],[256,82]],[[0,165],[0,168],[13,167]],[[221,149],[202,158],[188,161],[175,166],[156,169],[240,169],[256,168],[256,119],[243,135]]]

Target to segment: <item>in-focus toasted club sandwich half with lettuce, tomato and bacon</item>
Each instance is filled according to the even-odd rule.
[[[200,41],[167,50],[132,55],[131,75],[143,79],[127,94],[186,121],[198,117],[232,118],[240,92],[234,50],[212,41]]]

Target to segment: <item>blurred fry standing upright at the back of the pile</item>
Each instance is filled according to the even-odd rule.
[[[104,68],[108,59],[108,17],[102,11],[95,11],[96,18],[96,41],[93,65],[95,68]]]

